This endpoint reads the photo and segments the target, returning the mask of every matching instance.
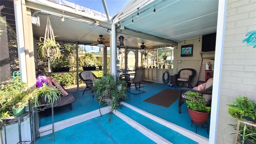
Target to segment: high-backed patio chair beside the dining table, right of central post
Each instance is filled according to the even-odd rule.
[[[133,92],[129,91],[128,89],[127,89],[127,92],[130,92],[132,94],[141,94],[143,92],[146,92],[146,91],[140,90],[140,88],[141,88],[140,82],[142,82],[142,77],[143,77],[143,74],[144,74],[144,69],[145,68],[136,68],[135,69],[134,78],[132,78],[132,79],[127,81],[128,82],[128,86],[129,86],[130,89],[131,89],[131,86],[135,86],[136,90],[139,90],[140,92],[139,93],[133,93]],[[132,85],[132,84],[134,84],[134,85]]]

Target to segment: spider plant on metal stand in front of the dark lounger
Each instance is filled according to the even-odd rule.
[[[42,87],[35,88],[32,91],[32,103],[34,103],[35,106],[39,106],[40,104],[50,104],[54,106],[54,102],[60,99],[61,94],[63,95],[62,91],[55,86],[51,87],[44,83],[42,84]]]

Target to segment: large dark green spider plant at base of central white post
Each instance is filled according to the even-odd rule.
[[[92,94],[96,96],[97,100],[100,98],[111,99],[110,106],[113,112],[118,108],[121,99],[127,99],[127,82],[119,80],[119,77],[115,77],[112,74],[106,74],[102,78],[95,82],[92,86]]]

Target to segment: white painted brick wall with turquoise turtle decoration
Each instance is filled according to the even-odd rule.
[[[228,106],[237,96],[256,100],[256,48],[242,42],[247,32],[256,30],[256,0],[228,0],[223,50],[218,144],[234,143],[228,124],[237,120],[228,114]]]

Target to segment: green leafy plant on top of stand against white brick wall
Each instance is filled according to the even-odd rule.
[[[248,116],[253,120],[255,119],[256,104],[245,96],[236,97],[236,100],[233,100],[227,106],[229,106],[228,114],[233,118],[245,120],[244,116]]]

